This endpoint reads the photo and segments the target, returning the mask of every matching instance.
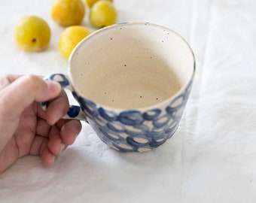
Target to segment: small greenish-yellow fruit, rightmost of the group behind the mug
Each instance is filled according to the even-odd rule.
[[[90,23],[96,28],[110,26],[117,21],[117,11],[107,0],[96,2],[90,10]]]

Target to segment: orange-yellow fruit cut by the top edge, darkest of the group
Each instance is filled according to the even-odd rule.
[[[59,26],[80,25],[84,19],[85,8],[81,0],[54,0],[51,17]]]

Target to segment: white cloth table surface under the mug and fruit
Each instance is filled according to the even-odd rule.
[[[0,74],[67,72],[51,2],[0,0]],[[256,1],[114,2],[119,22],[167,26],[194,50],[197,74],[177,132],[156,150],[119,153],[83,123],[53,167],[26,156],[0,174],[0,202],[256,202]],[[47,51],[14,44],[26,15],[49,23]]]

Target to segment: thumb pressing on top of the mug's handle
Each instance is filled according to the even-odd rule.
[[[0,115],[15,119],[33,102],[44,102],[59,95],[59,83],[35,75],[23,76],[0,92]]]

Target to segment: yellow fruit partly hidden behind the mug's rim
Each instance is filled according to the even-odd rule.
[[[70,26],[66,28],[59,37],[59,52],[66,59],[69,59],[75,46],[87,35],[90,35],[90,33],[90,30],[84,26]]]

